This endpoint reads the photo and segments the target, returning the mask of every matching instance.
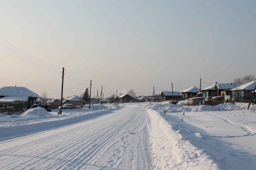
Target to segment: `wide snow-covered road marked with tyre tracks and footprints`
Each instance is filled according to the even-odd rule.
[[[150,169],[145,107],[0,142],[0,169]]]

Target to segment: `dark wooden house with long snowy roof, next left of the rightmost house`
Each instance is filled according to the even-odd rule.
[[[207,88],[202,89],[203,97],[220,96],[221,91],[230,90],[235,87],[241,86],[242,83],[215,83]]]

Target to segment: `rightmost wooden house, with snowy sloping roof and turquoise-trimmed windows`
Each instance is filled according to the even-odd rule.
[[[253,95],[253,90],[256,86],[256,81],[251,81],[249,83],[243,84],[241,86],[238,86],[234,89],[231,89],[232,91],[232,99],[239,101],[239,100],[245,100],[245,99],[251,99]]]

